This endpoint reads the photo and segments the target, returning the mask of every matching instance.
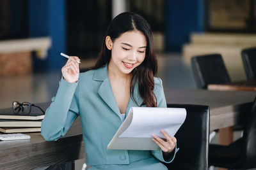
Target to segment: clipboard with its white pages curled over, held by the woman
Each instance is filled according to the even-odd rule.
[[[184,108],[132,107],[108,149],[159,150],[152,141],[152,134],[164,138],[161,130],[171,137],[179,130],[186,118]]]

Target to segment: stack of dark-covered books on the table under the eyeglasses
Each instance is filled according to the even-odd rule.
[[[44,115],[42,113],[15,115],[11,108],[4,109],[0,111],[0,132],[40,132],[43,119]]]

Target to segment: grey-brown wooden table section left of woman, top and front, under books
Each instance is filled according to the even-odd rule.
[[[49,103],[38,104],[44,110]],[[80,117],[58,141],[47,142],[40,133],[30,140],[0,141],[0,169],[34,169],[85,157]]]

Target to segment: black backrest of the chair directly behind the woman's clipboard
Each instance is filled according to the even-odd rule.
[[[185,108],[187,117],[175,134],[175,159],[166,164],[168,169],[205,170],[208,168],[209,107],[192,104],[167,104],[168,108]]]

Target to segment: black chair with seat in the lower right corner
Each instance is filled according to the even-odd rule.
[[[249,105],[243,137],[228,146],[209,145],[209,165],[228,169],[250,169],[256,167],[256,97]]]

